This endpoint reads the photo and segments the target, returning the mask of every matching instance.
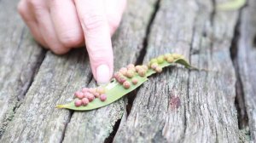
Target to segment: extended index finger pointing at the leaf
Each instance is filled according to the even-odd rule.
[[[113,74],[113,49],[102,0],[75,0],[90,66],[97,83],[108,83]]]

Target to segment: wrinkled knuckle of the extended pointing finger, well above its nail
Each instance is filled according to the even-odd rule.
[[[106,17],[101,14],[84,14],[82,16],[82,21],[84,23],[84,28],[87,31],[93,31],[106,26]]]

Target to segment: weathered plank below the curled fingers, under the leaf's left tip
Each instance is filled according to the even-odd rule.
[[[67,102],[73,92],[91,79],[83,49],[57,56],[48,52],[23,104],[0,142],[60,142],[70,118],[56,104]]]

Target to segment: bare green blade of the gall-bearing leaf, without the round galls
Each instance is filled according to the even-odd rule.
[[[175,64],[180,64],[185,66],[186,68],[190,69],[196,69],[193,66],[189,65],[189,62],[183,58],[182,55],[179,56],[178,59],[173,60],[172,63],[167,62],[166,60],[161,61],[161,64],[159,64],[160,67],[164,68],[166,66],[175,66]],[[152,74],[156,73],[152,69],[148,69],[148,72],[146,73],[145,77],[140,77],[137,72],[134,77],[137,78],[138,83],[136,85],[131,84],[131,87],[129,89],[125,89],[122,84],[118,83],[115,79],[113,82],[108,83],[107,86],[105,86],[105,90],[108,98],[105,101],[100,100],[99,98],[96,98],[95,100],[91,101],[87,106],[75,106],[74,105],[74,100],[70,103],[64,104],[64,105],[58,105],[56,106],[57,108],[66,108],[70,110],[75,110],[75,111],[88,111],[88,110],[93,110],[96,108],[100,108],[102,106],[108,106],[109,104],[113,103],[116,100],[119,100],[121,97],[123,97],[125,94],[130,93],[132,90],[137,89],[140,85],[142,85],[144,82],[148,80],[147,77],[151,76]],[[126,79],[128,82],[131,83],[131,78]]]

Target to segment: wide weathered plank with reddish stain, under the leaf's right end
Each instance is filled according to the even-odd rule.
[[[150,77],[129,116],[122,118],[114,142],[239,141],[230,60],[237,17],[237,11],[215,12],[210,0],[160,1],[145,61],[177,52],[209,71],[176,67]]]

